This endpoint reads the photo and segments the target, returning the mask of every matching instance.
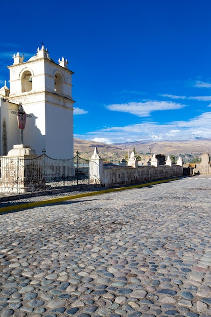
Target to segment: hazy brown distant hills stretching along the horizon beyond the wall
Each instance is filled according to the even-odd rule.
[[[135,141],[116,144],[104,144],[74,138],[74,152],[76,153],[78,150],[81,157],[90,159],[95,147],[98,148],[102,159],[112,162],[121,160],[125,154],[128,154],[128,150],[131,152],[134,147],[141,157],[149,152],[165,155],[191,154],[198,156],[203,152],[211,153],[211,138],[191,141]]]

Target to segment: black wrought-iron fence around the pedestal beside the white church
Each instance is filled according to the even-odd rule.
[[[77,152],[69,160],[52,159],[45,153],[33,159],[1,157],[0,190],[21,193],[90,183],[89,160]]]

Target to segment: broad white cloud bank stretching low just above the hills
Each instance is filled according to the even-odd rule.
[[[137,125],[111,127],[87,134],[87,139],[105,143],[125,143],[141,140],[194,140],[211,137],[211,112],[202,113],[188,121],[160,124],[143,122]],[[99,138],[99,135],[101,138]]]

